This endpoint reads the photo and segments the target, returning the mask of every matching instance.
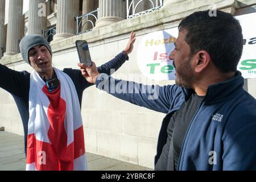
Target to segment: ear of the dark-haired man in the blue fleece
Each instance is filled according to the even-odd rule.
[[[199,51],[196,53],[195,72],[200,73],[204,71],[210,64],[210,55],[207,51]]]

